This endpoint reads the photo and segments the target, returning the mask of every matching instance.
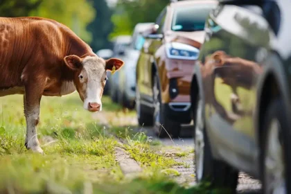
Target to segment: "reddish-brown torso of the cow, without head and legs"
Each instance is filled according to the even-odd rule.
[[[0,90],[42,82],[44,95],[59,96],[62,81],[73,80],[75,73],[64,57],[95,55],[67,26],[51,19],[0,17],[0,37]]]

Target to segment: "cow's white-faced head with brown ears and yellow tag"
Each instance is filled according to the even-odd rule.
[[[101,98],[106,84],[106,71],[116,70],[123,66],[123,61],[116,58],[103,60],[98,56],[79,58],[69,55],[64,58],[65,64],[74,73],[74,84],[84,102],[84,108],[90,112],[102,109]]]

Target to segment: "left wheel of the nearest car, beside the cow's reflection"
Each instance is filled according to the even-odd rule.
[[[238,170],[213,158],[204,123],[203,101],[198,96],[195,118],[195,175],[198,183],[210,182],[214,188],[236,193]]]

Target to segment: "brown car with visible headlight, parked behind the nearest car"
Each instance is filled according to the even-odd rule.
[[[191,123],[191,71],[204,41],[205,19],[216,4],[172,2],[145,33],[136,65],[136,111],[139,125],[154,125],[160,137],[177,137],[181,124]]]

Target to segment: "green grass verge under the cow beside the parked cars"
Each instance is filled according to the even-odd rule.
[[[96,114],[82,108],[76,93],[42,98],[37,134],[45,155],[24,147],[23,112],[22,96],[0,98],[0,193],[213,191],[208,189],[209,185],[184,188],[173,182],[171,177],[179,173],[171,167],[180,164],[157,152],[159,146],[152,145],[160,145],[158,141],[131,130],[134,125],[127,122],[135,118],[135,113],[124,111],[106,96],[103,112]],[[109,132],[119,133],[128,144],[120,145]],[[125,148],[143,167],[136,179],[127,179],[121,172],[114,155],[116,146]]]

